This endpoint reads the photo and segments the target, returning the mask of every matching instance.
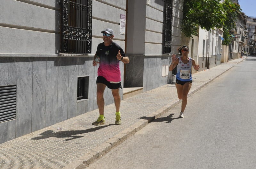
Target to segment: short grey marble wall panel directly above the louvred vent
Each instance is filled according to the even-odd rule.
[[[12,57],[0,57],[0,86],[17,84],[17,63]]]

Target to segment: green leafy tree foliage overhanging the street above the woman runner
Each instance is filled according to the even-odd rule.
[[[210,31],[223,28],[224,44],[232,40],[229,31],[234,28],[235,20],[241,12],[240,5],[225,0],[184,0],[182,32],[186,37],[198,35],[198,26]]]

